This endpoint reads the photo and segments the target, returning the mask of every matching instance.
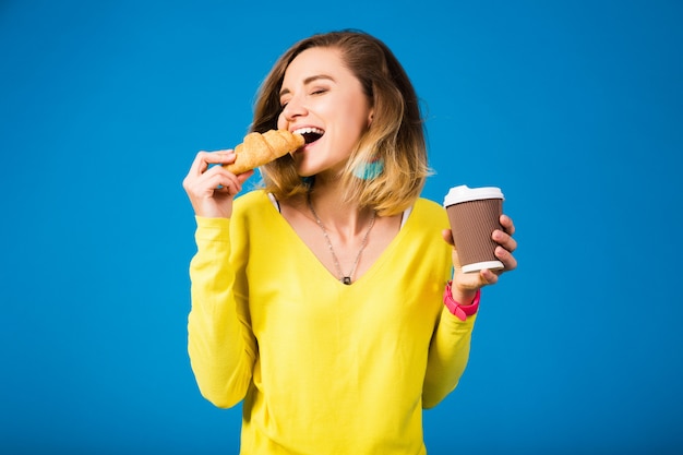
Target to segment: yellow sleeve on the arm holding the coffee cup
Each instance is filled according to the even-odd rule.
[[[456,386],[467,361],[477,315],[460,321],[444,307],[432,336],[422,390],[422,407],[436,406]]]

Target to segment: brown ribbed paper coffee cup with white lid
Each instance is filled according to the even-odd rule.
[[[491,239],[495,229],[502,229],[503,200],[501,189],[495,187],[459,185],[446,194],[443,205],[464,273],[503,268],[493,253],[498,243]]]

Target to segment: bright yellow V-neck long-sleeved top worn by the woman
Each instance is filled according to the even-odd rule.
[[[242,454],[424,454],[422,408],[457,384],[476,316],[443,306],[443,207],[420,199],[352,285],[263,191],[197,217],[189,354],[202,395],[243,403]]]

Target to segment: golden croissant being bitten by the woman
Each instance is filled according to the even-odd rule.
[[[265,133],[249,133],[244,142],[235,147],[235,163],[224,167],[235,175],[271,163],[280,156],[295,152],[304,144],[301,134],[287,130],[271,130]]]

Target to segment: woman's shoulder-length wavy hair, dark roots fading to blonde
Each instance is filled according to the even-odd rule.
[[[263,133],[277,128],[281,111],[279,91],[285,71],[302,51],[314,48],[340,51],[347,68],[358,77],[373,108],[373,120],[359,140],[339,178],[345,200],[372,207],[381,216],[396,215],[419,197],[431,173],[427,160],[424,125],[415,88],[388,47],[358,31],[313,35],[295,44],[275,63],[262,83],[250,131]],[[355,169],[382,160],[383,171],[371,179],[358,178]],[[309,191],[289,155],[261,167],[263,187],[286,200]]]

